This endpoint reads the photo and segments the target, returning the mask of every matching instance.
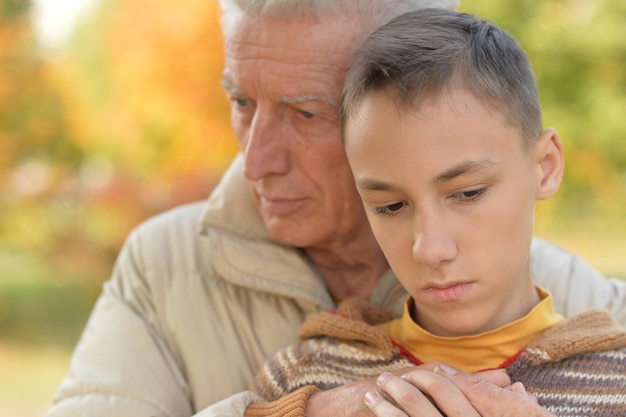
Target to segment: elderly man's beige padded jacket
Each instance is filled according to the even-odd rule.
[[[533,273],[559,312],[600,306],[626,323],[626,282],[539,241]],[[370,301],[399,313],[405,296],[388,272]],[[237,158],[206,204],[128,237],[46,416],[243,415],[264,360],[333,307],[302,252],[268,238]]]

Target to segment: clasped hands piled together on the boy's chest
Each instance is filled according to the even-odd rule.
[[[434,362],[398,369],[309,398],[306,415],[365,417],[548,417],[504,370],[467,374]]]

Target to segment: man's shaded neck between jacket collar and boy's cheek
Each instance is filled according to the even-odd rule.
[[[330,295],[341,300],[369,298],[389,264],[373,237],[337,245],[306,248],[306,254],[324,277]]]

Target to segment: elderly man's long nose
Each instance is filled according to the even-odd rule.
[[[289,172],[289,127],[277,116],[257,112],[244,139],[244,174],[250,181]]]

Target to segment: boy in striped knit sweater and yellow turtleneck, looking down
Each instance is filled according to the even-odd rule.
[[[523,392],[521,382],[556,415],[626,415],[626,332],[599,310],[565,320],[531,280],[534,206],[558,190],[563,152],[556,131],[542,128],[516,42],[467,14],[400,16],[357,50],[342,116],[369,222],[410,297],[392,321],[352,301],[312,318],[303,342],[263,368],[259,393],[306,401],[317,388],[443,361],[505,368],[518,382],[510,389]],[[401,407],[370,392],[379,416],[455,411],[455,398],[426,400],[419,372],[384,373],[379,385]],[[248,414],[284,412],[293,395]]]

